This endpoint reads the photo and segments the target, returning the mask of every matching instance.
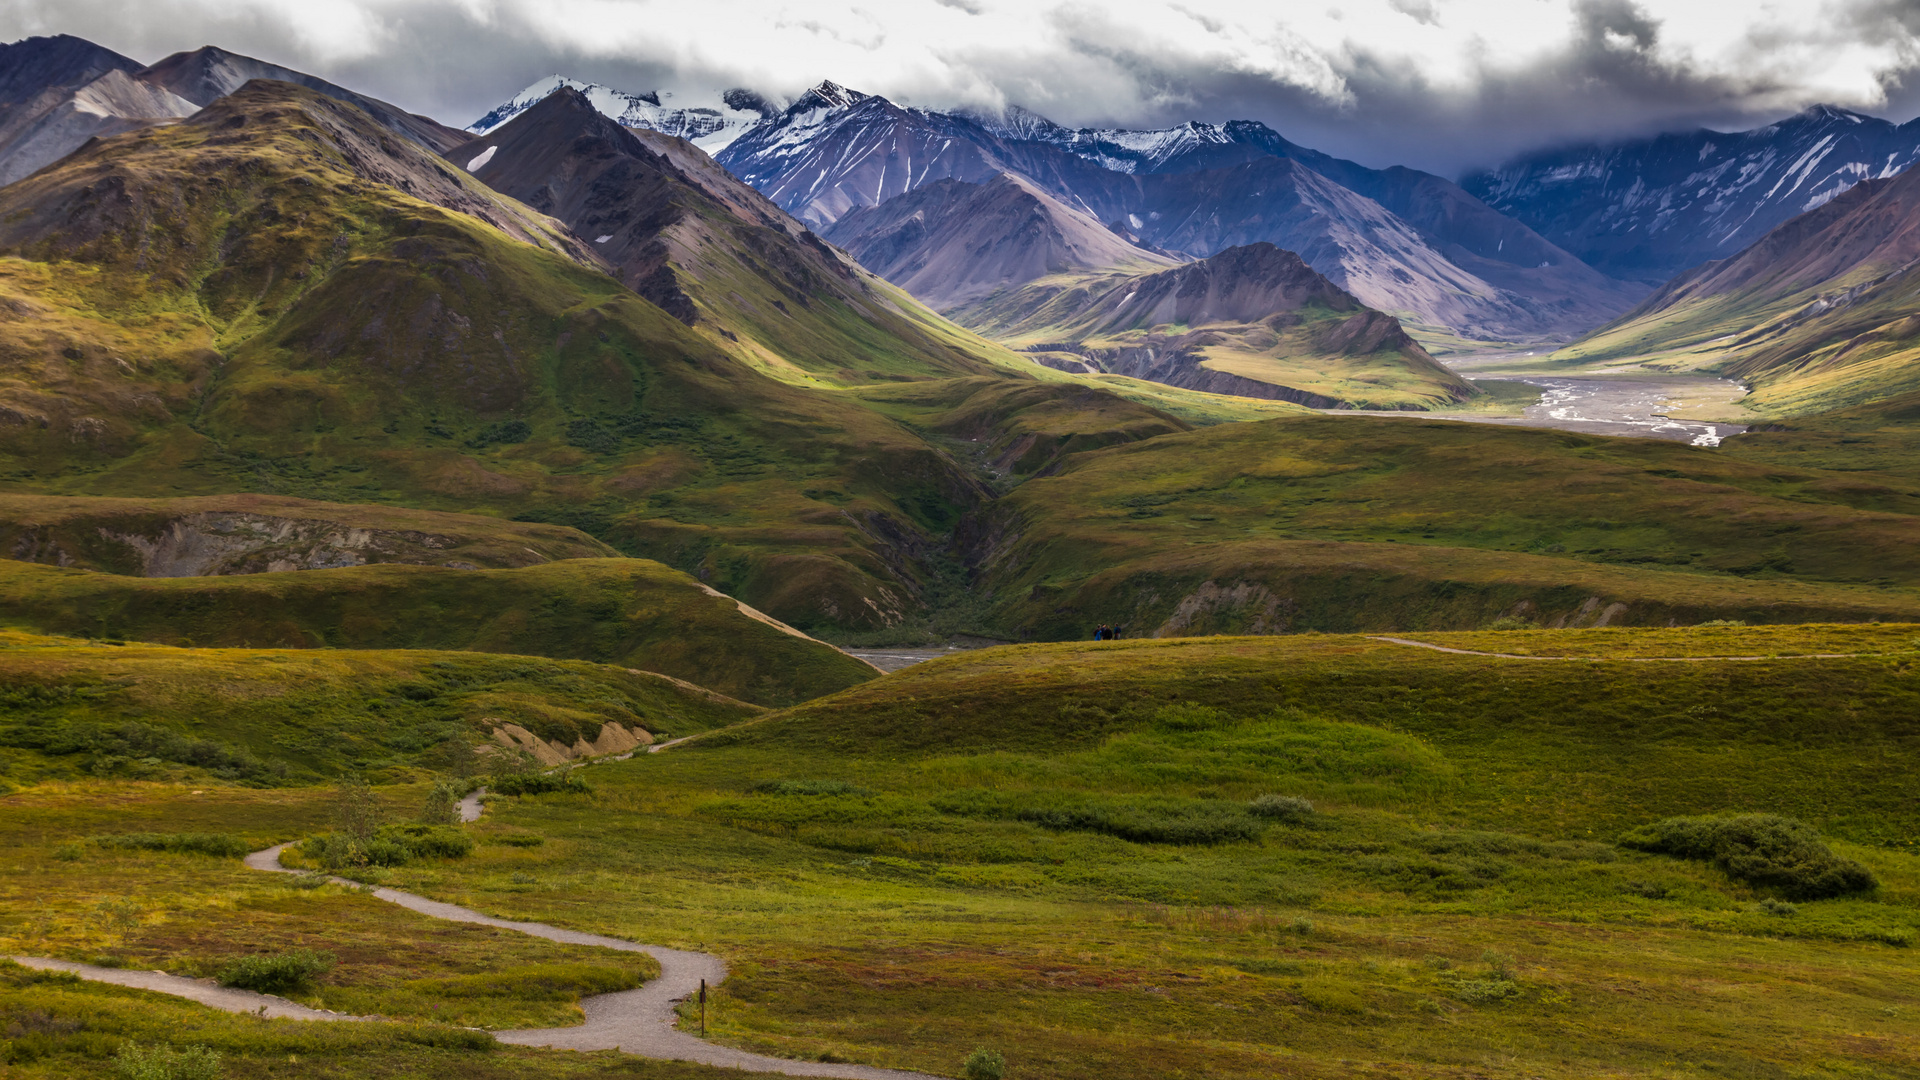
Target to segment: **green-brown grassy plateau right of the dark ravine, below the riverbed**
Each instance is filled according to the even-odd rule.
[[[981,548],[996,625],[1039,638],[1868,619],[1920,603],[1916,509],[1903,480],[1653,440],[1306,417],[1075,457]]]

